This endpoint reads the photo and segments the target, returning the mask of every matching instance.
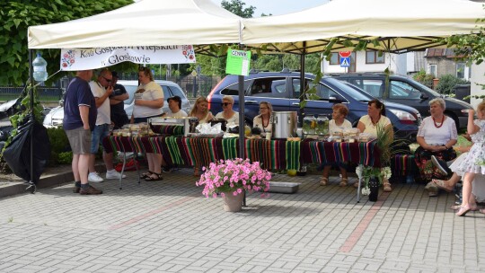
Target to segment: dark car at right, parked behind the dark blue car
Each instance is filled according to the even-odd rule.
[[[386,75],[382,73],[338,74],[331,76],[354,84],[376,98],[416,108],[423,118],[429,116],[429,101],[435,98],[443,98],[446,103],[445,115],[454,119],[456,128],[466,128],[468,114],[463,113],[462,110],[472,109],[472,105],[465,101],[441,95],[428,86],[402,75],[389,75],[387,88],[385,85]]]

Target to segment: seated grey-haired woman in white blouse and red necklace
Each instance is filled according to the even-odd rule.
[[[454,152],[453,145],[456,144],[458,138],[454,120],[444,114],[445,100],[437,98],[429,101],[429,111],[431,116],[423,119],[419,126],[416,137],[419,147],[414,153],[414,160],[419,169],[419,179],[425,183],[433,178],[445,178],[445,175],[433,166],[431,155],[446,162],[454,159],[456,152]]]

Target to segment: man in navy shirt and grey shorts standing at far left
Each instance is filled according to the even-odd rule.
[[[78,71],[67,86],[64,96],[63,128],[73,150],[73,173],[75,193],[82,195],[101,194],[88,182],[88,166],[91,154],[91,131],[96,124],[96,103],[88,82],[93,70]]]

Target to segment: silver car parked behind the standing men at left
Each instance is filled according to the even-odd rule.
[[[163,112],[167,112],[168,103],[167,99],[173,96],[181,97],[182,101],[182,110],[185,110],[187,113],[190,112],[190,101],[187,99],[187,96],[182,91],[179,84],[175,84],[170,81],[162,81],[162,80],[155,80],[157,84],[160,84],[163,89]],[[133,112],[133,105],[135,105],[135,96],[134,93],[137,91],[138,81],[118,81],[118,84],[122,84],[127,89],[129,98],[128,100],[124,101],[125,103],[125,111],[127,112],[128,118],[131,117],[131,113]],[[64,108],[61,106],[57,106],[57,108],[50,110],[46,118],[44,119],[44,126],[45,127],[57,127],[62,125],[62,119],[64,119]]]

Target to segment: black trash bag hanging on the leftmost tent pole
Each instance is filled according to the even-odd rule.
[[[31,181],[31,132],[33,134],[33,181]],[[4,150],[4,160],[12,172],[34,184],[40,180],[50,156],[47,129],[38,121],[28,120],[18,128],[18,133]]]

